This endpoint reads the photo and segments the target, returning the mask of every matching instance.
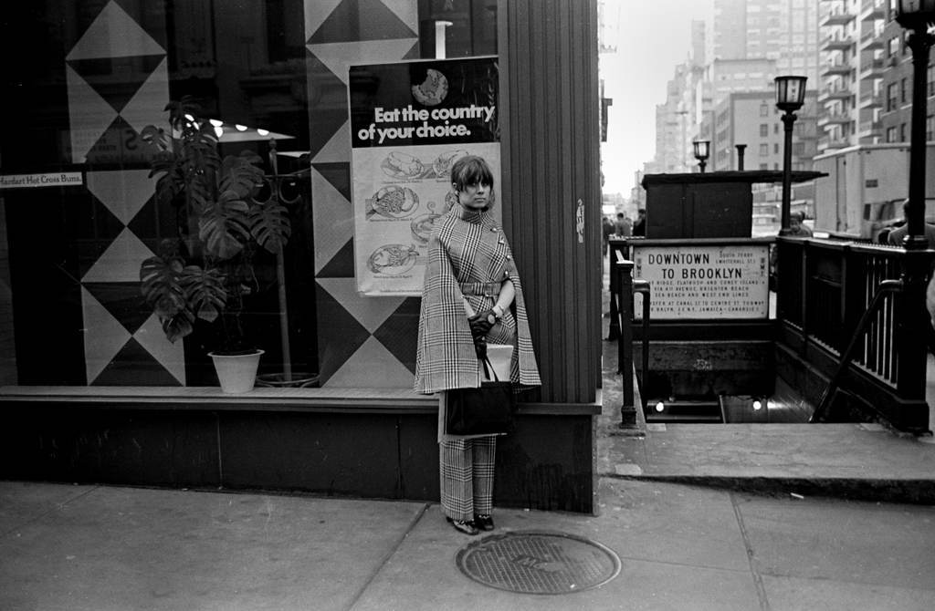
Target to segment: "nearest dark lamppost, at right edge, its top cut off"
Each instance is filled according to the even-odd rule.
[[[926,106],[928,49],[935,36],[928,26],[935,21],[935,0],[897,0],[896,21],[912,30],[909,48],[913,50],[913,119],[909,142],[909,205],[906,206],[907,250],[927,248],[926,215]],[[935,248],[935,244],[928,245]]]

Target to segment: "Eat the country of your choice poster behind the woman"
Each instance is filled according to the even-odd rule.
[[[496,58],[352,65],[354,267],[365,295],[420,295],[432,224],[456,202],[451,168],[490,164],[499,201]],[[494,207],[499,216],[499,207]]]

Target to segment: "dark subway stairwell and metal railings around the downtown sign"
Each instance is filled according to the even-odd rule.
[[[899,291],[891,289],[904,277],[907,257],[928,270],[935,252],[778,238],[772,247],[774,316],[656,320],[648,299],[642,311],[634,310],[640,293],[652,293],[654,303],[665,301],[652,281],[640,277],[645,256],[641,266],[634,260],[666,242],[611,241],[608,339],[619,342],[622,426],[634,421],[635,373],[646,421],[767,422],[767,406],[780,386],[796,389],[806,405],[821,405],[794,421],[883,420],[901,431],[928,431],[928,317],[919,295],[911,300],[901,282]]]

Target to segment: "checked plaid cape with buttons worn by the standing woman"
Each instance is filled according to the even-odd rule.
[[[499,285],[506,279],[512,281],[516,290],[508,313],[515,323],[511,381],[518,390],[541,384],[529,336],[523,285],[510,245],[489,212],[466,211],[455,206],[436,220],[429,238],[419,313],[413,385],[416,392],[431,394],[481,385],[464,298],[467,297],[475,312],[482,312],[496,303],[498,290],[462,291],[462,285]],[[505,315],[504,319],[507,318]]]

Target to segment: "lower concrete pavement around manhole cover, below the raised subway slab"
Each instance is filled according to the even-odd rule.
[[[0,608],[899,609],[935,602],[935,507],[600,484],[600,515],[498,509],[621,572],[559,595],[459,572],[436,504],[0,482]]]

